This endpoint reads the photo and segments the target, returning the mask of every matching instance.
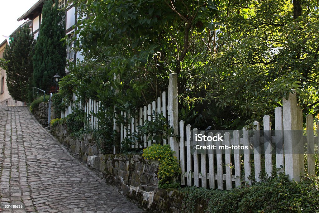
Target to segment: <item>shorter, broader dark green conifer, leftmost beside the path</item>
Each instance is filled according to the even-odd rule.
[[[25,25],[13,35],[10,46],[7,45],[4,51],[5,63],[1,66],[6,69],[9,94],[17,101],[28,101],[28,91],[32,85],[33,48],[33,35]]]

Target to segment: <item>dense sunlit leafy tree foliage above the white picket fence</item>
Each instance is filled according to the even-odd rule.
[[[179,118],[193,127],[237,129],[262,121],[293,91],[304,113],[319,111],[314,0],[75,4],[85,63],[63,84],[99,99],[110,114],[114,106],[134,111],[161,96],[172,72],[178,73]]]

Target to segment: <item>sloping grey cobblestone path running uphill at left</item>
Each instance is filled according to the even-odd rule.
[[[0,212],[14,213],[143,212],[72,157],[26,107],[0,106],[0,202]]]

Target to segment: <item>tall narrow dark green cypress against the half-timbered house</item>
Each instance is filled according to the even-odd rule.
[[[58,10],[58,0],[52,6],[51,0],[43,5],[42,23],[33,56],[34,86],[46,92],[54,90],[53,76],[56,73],[65,76],[66,65],[66,47],[60,42],[65,36],[64,13]]]

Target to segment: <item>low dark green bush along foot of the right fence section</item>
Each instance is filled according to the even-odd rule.
[[[319,178],[289,181],[281,174],[232,191],[182,188],[184,212],[319,212]],[[197,205],[195,204],[197,203]]]

